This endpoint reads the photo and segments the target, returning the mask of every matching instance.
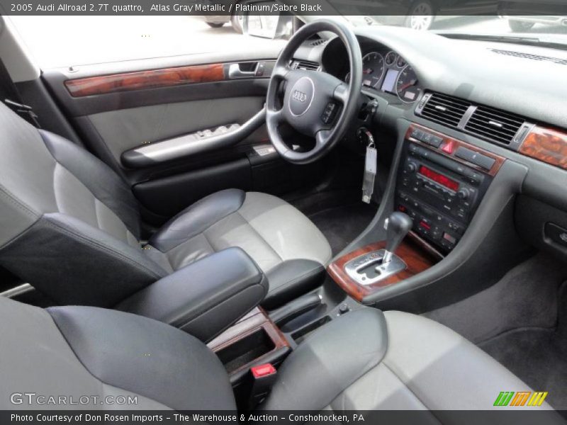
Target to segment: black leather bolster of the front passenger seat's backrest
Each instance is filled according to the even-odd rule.
[[[102,382],[176,410],[236,409],[225,368],[193,336],[115,310],[47,312],[79,361]]]

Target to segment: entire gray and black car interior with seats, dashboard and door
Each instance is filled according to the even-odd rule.
[[[339,18],[40,69],[2,17],[2,382],[144,410],[567,409],[567,52]]]

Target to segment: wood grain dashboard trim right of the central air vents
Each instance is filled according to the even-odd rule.
[[[522,143],[520,153],[567,169],[567,132],[535,126]]]

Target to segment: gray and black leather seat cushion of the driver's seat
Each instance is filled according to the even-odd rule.
[[[237,189],[186,208],[152,239],[174,270],[230,246],[240,246],[269,280],[262,303],[271,308],[320,285],[331,259],[327,239],[283,200]]]

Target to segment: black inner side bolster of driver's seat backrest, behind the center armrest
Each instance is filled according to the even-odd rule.
[[[0,265],[61,305],[111,307],[167,276],[140,249],[59,212],[4,246]]]

